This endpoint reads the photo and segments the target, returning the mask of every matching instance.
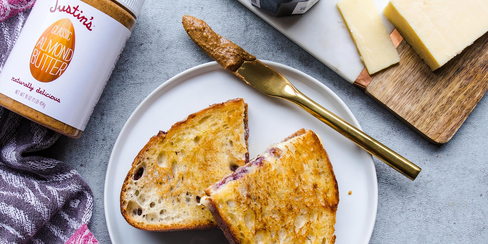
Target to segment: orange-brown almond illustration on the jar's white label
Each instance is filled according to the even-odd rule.
[[[69,19],[51,24],[42,33],[32,50],[30,71],[41,82],[58,79],[73,59],[75,29]]]

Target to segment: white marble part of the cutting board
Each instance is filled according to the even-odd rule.
[[[339,0],[319,0],[303,16],[274,18],[254,7],[250,0],[238,0],[341,77],[353,83],[365,68],[341,13]],[[373,0],[388,33],[393,25],[383,14],[388,0]]]

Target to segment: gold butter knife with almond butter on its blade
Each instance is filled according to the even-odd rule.
[[[182,21],[188,36],[205,53],[254,88],[266,95],[284,99],[305,109],[412,181],[422,170],[381,142],[309,99],[283,75],[257,60],[238,45],[215,33],[203,20],[185,15]]]

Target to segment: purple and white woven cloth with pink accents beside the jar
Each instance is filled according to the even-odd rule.
[[[0,71],[33,3],[0,0]],[[0,106],[0,244],[98,244],[86,225],[90,186],[68,164],[36,156],[59,137]]]

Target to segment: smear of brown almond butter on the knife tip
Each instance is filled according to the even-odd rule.
[[[191,40],[227,70],[236,72],[244,61],[256,60],[254,55],[249,54],[242,47],[215,33],[205,21],[183,15],[182,23]]]

